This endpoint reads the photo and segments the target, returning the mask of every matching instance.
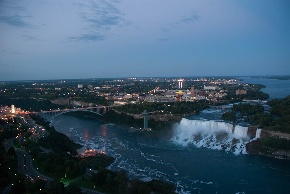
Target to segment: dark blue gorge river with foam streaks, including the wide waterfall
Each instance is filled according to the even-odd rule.
[[[290,161],[245,153],[243,143],[250,139],[234,133],[232,123],[221,122],[224,111],[209,108],[183,119],[171,140],[151,139],[89,117],[59,115],[51,125],[73,141],[116,158],[109,169],[123,168],[130,179],[171,182],[178,193],[289,193]],[[242,122],[240,132],[248,125]],[[202,138],[195,141],[191,136],[198,130]],[[229,135],[218,141],[225,132]],[[235,138],[240,141],[234,144]],[[235,151],[222,150],[227,144]]]

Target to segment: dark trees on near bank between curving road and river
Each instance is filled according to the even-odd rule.
[[[49,126],[49,122],[45,122],[34,115],[30,117],[48,130],[49,135],[39,138],[38,142],[26,138],[23,146],[28,148],[29,154],[35,159],[37,165],[49,176],[58,178],[78,177],[86,172],[86,167],[98,170],[98,168],[109,166],[114,162],[114,158],[109,156],[90,156],[85,159],[72,157],[72,155],[78,155],[77,149],[82,147],[80,144],[73,142],[65,134],[57,132],[53,126]],[[53,152],[41,153],[40,147],[51,149]],[[67,152],[70,152],[70,154]]]

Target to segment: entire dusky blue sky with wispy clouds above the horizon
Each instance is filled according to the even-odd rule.
[[[290,74],[290,1],[1,0],[0,80]]]

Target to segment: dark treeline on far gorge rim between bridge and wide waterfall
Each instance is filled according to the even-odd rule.
[[[173,114],[184,115],[199,113],[200,110],[209,108],[209,102],[206,100],[199,100],[195,102],[141,102],[137,104],[126,104],[123,106],[113,107],[120,112],[126,112],[131,114],[141,114],[144,110],[148,110],[148,113],[154,110],[160,110],[161,115]]]

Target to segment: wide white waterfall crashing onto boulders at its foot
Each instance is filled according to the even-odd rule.
[[[189,120],[183,118],[175,126],[175,137],[178,144],[195,144],[197,147],[246,153],[245,145],[249,141],[248,127],[232,125],[226,122]]]

